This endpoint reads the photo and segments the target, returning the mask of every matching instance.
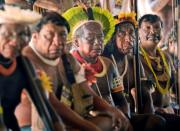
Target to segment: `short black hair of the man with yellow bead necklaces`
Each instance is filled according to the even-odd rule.
[[[161,18],[158,15],[154,15],[154,14],[143,15],[139,19],[139,28],[141,28],[142,22],[154,23],[154,22],[158,22],[158,21],[161,22],[161,26],[163,27],[163,22],[162,22]]]

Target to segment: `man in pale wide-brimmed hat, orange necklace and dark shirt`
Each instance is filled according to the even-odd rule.
[[[12,12],[16,12],[16,16],[10,14]],[[34,91],[35,88],[32,88],[33,84],[29,80],[27,70],[23,70],[25,68],[22,56],[20,56],[21,49],[28,43],[30,37],[27,24],[40,18],[41,16],[36,13],[21,10],[17,7],[4,6],[4,10],[0,11],[0,99],[4,110],[4,121],[8,130],[20,131],[14,111],[20,102],[23,88],[28,91],[31,99],[36,102],[35,105],[38,111],[42,111],[37,106],[37,104],[42,106],[42,103],[37,103],[40,98],[34,94],[36,92]],[[29,67],[32,68],[32,66]],[[31,77],[35,79],[36,76]],[[44,102],[47,101],[44,100]],[[48,109],[51,110],[51,107],[49,106]],[[41,115],[43,115],[42,112]],[[59,123],[59,119],[54,117],[52,122]],[[56,130],[63,130],[62,123],[58,127],[60,129]]]

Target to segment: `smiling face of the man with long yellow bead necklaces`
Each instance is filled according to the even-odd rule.
[[[139,38],[141,45],[145,47],[155,47],[161,40],[161,22],[142,22],[139,28]]]

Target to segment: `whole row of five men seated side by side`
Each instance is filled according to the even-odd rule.
[[[8,14],[8,10],[13,8],[5,7],[0,12],[1,104],[7,128],[18,131],[20,126],[21,130],[48,130],[38,115],[40,112],[36,111],[39,109],[37,103],[34,103],[35,108],[23,90],[33,96],[33,88],[28,84],[31,81],[25,77],[27,75],[22,68],[20,56],[24,56],[42,80],[43,92],[53,107],[48,106],[48,109],[55,130],[180,129],[179,117],[170,107],[169,89],[175,84],[172,77],[175,70],[169,55],[157,47],[162,28],[158,16],[148,14],[139,20],[143,78],[139,95],[142,96],[144,114],[137,115],[131,114],[138,104],[134,64],[129,54],[137,26],[133,17],[118,18],[115,31],[104,49],[103,41],[108,36],[104,34],[103,24],[96,19],[87,19],[74,24],[76,27],[70,30],[68,18],[55,12],[46,13],[36,22],[29,42],[26,25],[33,18],[26,19],[23,10],[17,12],[19,17]],[[70,53],[65,52],[68,33],[74,44]],[[16,108],[20,96],[21,104]],[[54,110],[63,122],[55,117]]]

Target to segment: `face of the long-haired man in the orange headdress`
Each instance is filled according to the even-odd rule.
[[[120,25],[115,35],[118,50],[124,54],[129,53],[135,40],[135,30],[133,25],[130,23]]]

